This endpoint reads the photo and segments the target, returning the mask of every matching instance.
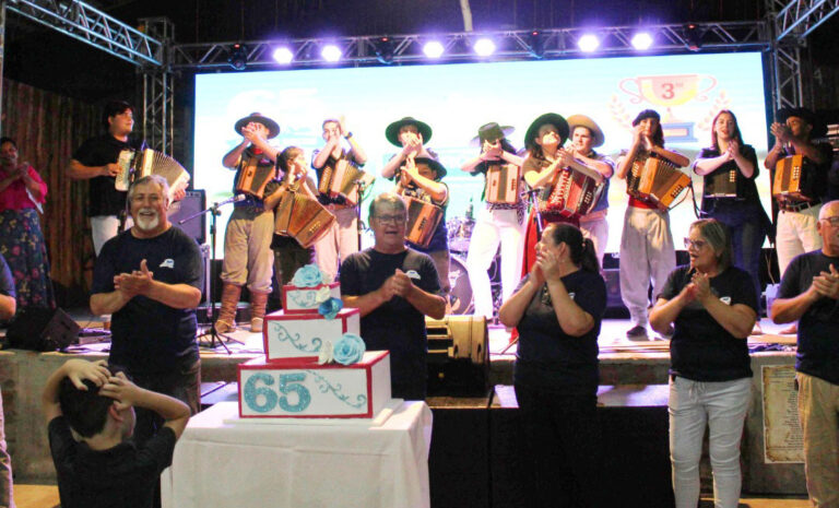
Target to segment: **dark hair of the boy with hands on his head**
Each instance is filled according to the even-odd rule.
[[[108,366],[111,376],[121,369]],[[88,379],[83,380],[87,390],[75,388],[70,378],[64,378],[58,388],[61,413],[70,427],[82,437],[93,437],[105,428],[108,407],[114,399],[99,394],[99,387]]]

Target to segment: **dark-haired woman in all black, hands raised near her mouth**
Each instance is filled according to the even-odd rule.
[[[498,316],[519,331],[513,381],[534,479],[524,506],[601,506],[598,335],[606,308],[594,244],[554,223]]]

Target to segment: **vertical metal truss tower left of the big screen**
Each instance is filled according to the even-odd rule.
[[[143,66],[143,139],[154,150],[172,155],[175,128],[175,79],[169,48],[175,40],[175,26],[166,17],[140,20],[145,32],[163,43],[161,64]]]

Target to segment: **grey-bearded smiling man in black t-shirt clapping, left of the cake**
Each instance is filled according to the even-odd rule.
[[[196,307],[203,267],[198,244],[166,218],[167,193],[159,176],[140,178],[129,189],[134,225],[108,240],[96,259],[91,310],[114,314],[111,364],[125,367],[138,386],[180,399],[197,413]],[[138,442],[159,423],[138,412]]]

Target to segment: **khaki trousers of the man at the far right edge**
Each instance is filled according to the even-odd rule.
[[[839,508],[839,386],[797,373],[807,494],[815,508]]]

